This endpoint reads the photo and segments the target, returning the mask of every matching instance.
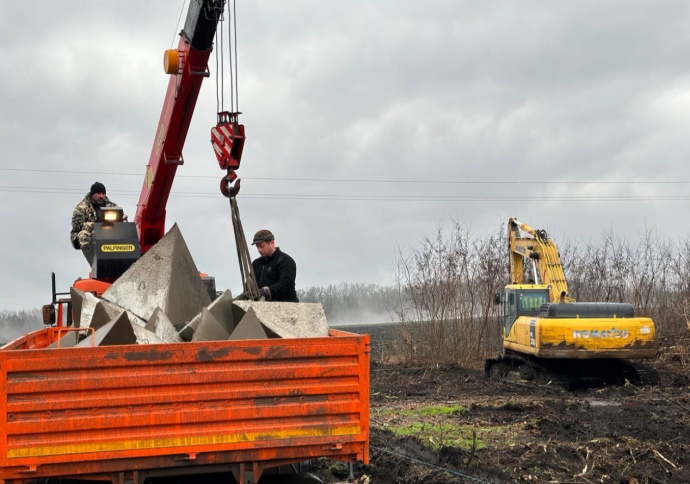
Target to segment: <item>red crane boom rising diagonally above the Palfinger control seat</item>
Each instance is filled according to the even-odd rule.
[[[225,0],[191,0],[176,50],[166,51],[171,74],[134,222],[142,254],[165,233],[165,207],[192,120],[199,89],[209,76],[208,59]]]

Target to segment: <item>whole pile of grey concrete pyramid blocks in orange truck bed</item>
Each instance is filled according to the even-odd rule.
[[[60,347],[328,336],[320,304],[233,301],[230,291],[211,302],[177,225],[102,298],[71,295],[74,327],[93,334]]]

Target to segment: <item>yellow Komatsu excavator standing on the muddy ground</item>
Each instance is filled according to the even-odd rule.
[[[490,378],[517,374],[568,388],[655,381],[637,361],[657,354],[650,318],[636,317],[631,304],[575,302],[545,230],[511,218],[508,246],[510,284],[494,300],[503,309],[503,349],[486,360]]]

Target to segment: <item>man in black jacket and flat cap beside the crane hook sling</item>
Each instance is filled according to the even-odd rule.
[[[299,302],[295,292],[295,260],[276,247],[270,230],[263,229],[254,234],[252,245],[256,245],[261,255],[252,261],[259,293],[267,301]]]

